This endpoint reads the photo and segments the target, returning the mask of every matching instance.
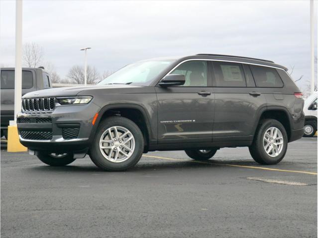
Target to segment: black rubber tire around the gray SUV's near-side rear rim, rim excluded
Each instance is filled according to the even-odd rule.
[[[263,145],[264,134],[270,127],[278,128],[282,132],[283,139],[284,139],[283,150],[276,157],[269,156],[266,153],[264,145]],[[267,165],[273,165],[273,164],[279,163],[284,158],[286,151],[287,151],[287,146],[288,146],[288,136],[287,136],[287,132],[286,132],[285,127],[278,120],[265,119],[262,122],[261,126],[259,127],[258,134],[257,134],[257,140],[253,146],[255,147],[253,149],[256,150],[256,154],[258,154],[258,155],[256,155],[258,157],[257,159],[255,159],[253,156],[253,158],[255,159],[256,162],[261,163],[261,164],[267,164]]]

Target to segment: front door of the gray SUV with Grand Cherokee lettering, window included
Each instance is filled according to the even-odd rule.
[[[212,141],[214,95],[208,64],[183,62],[171,74],[185,75],[184,85],[156,87],[159,144]]]

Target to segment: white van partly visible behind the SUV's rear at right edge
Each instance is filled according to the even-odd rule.
[[[305,100],[304,136],[306,137],[314,136],[317,131],[317,96],[318,92],[315,92]]]

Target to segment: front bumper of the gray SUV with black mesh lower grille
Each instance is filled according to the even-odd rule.
[[[90,145],[92,120],[99,110],[91,102],[56,105],[52,112],[21,112],[17,115],[20,142],[30,150],[85,151]]]

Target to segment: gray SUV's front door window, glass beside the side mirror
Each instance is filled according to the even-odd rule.
[[[180,87],[207,87],[207,61],[193,60],[187,61],[179,65],[171,74],[183,74],[186,82]]]

